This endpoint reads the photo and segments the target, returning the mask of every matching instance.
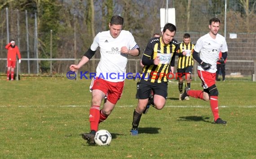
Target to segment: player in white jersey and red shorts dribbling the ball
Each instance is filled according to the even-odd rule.
[[[92,104],[89,112],[90,133],[83,133],[82,137],[94,144],[94,136],[100,122],[106,120],[121,98],[128,55],[138,56],[140,48],[129,31],[122,30],[123,17],[111,17],[110,30],[98,33],[88,51],[79,64],[71,64],[70,70],[75,71],[86,64],[100,47],[101,60],[96,69],[96,77],[92,80]],[[100,110],[102,100],[104,104]]]

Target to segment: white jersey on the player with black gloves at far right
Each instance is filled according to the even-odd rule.
[[[216,73],[216,64],[219,59],[219,53],[220,51],[227,52],[228,46],[225,37],[222,35],[217,34],[216,39],[212,39],[208,33],[198,39],[194,46],[194,51],[200,52],[200,59],[203,60],[203,62],[212,64],[212,67],[207,70],[204,70],[201,65],[199,65],[198,70]]]

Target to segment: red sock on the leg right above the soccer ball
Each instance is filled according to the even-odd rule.
[[[98,125],[99,125],[99,120],[100,120],[100,107],[94,105],[90,108],[90,116],[89,116],[89,121],[90,121],[90,126],[91,130],[98,130]]]

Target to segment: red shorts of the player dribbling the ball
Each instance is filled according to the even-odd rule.
[[[116,104],[121,98],[123,89],[124,81],[109,82],[98,77],[96,77],[96,79],[93,78],[90,86],[90,90],[101,90],[106,95],[107,100],[113,104]]]

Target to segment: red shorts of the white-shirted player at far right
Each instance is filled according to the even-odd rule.
[[[201,70],[197,70],[197,73],[198,73],[199,78],[203,82],[204,89],[207,89],[208,87],[215,84],[216,73],[210,73],[210,72],[201,71]]]

